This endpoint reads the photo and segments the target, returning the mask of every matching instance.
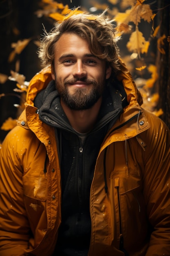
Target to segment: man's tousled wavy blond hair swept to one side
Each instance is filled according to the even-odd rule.
[[[55,57],[55,43],[64,33],[74,33],[84,38],[92,54],[106,61],[113,69],[119,70],[118,38],[115,37],[113,20],[105,16],[106,11],[100,15],[88,13],[74,13],[61,22],[56,22],[49,33],[44,30],[38,56],[43,65],[53,65]]]

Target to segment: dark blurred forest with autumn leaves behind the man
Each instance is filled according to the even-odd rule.
[[[24,108],[28,82],[42,69],[36,52],[43,26],[49,31],[67,9],[78,6],[90,13],[109,7],[121,35],[121,58],[144,107],[170,128],[169,0],[0,0],[0,143]]]

